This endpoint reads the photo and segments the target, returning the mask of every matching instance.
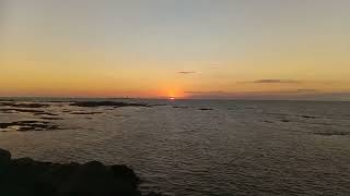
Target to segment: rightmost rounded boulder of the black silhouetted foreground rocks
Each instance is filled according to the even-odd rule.
[[[97,161],[82,164],[59,188],[58,195],[139,195],[138,177],[133,171],[124,166],[113,168]]]

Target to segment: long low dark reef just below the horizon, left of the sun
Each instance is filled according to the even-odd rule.
[[[116,101],[78,101],[70,103],[70,106],[77,107],[149,107],[142,103],[129,103],[129,102],[116,102]]]

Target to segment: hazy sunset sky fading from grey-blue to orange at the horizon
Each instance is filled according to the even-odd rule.
[[[350,100],[349,0],[0,0],[0,96]]]

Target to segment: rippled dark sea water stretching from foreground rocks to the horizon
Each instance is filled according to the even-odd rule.
[[[0,128],[0,148],[45,161],[125,163],[142,189],[167,195],[350,195],[350,102],[124,101],[154,106],[46,102],[34,113],[0,105],[0,123],[58,127]]]

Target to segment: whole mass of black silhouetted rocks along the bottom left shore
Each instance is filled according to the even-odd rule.
[[[0,195],[9,196],[161,196],[142,195],[140,179],[126,166],[39,162],[12,159],[0,149]]]

